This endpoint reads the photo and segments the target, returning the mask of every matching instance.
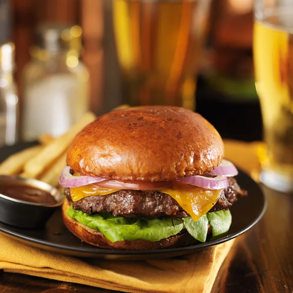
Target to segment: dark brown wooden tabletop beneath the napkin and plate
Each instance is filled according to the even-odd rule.
[[[293,293],[293,194],[263,187],[263,219],[237,238],[212,293]],[[249,212],[249,211],[247,211]],[[110,293],[84,285],[1,272],[0,293]]]

